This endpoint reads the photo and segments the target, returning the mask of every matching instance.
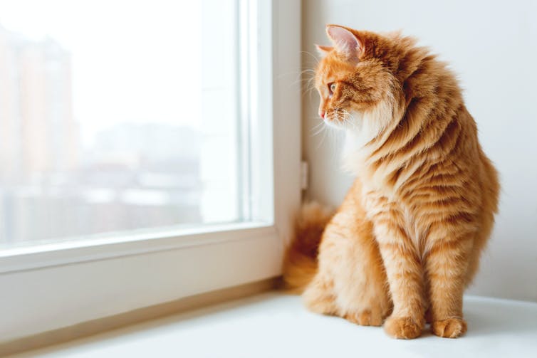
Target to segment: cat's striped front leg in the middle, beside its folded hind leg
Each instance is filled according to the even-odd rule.
[[[393,301],[385,331],[395,338],[415,338],[424,327],[423,270],[417,248],[400,223],[397,211],[385,209],[374,219],[375,237]]]

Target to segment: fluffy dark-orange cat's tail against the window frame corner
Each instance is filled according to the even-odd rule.
[[[320,238],[333,211],[316,202],[304,204],[295,222],[294,237],[283,259],[283,285],[301,293],[317,273]]]

